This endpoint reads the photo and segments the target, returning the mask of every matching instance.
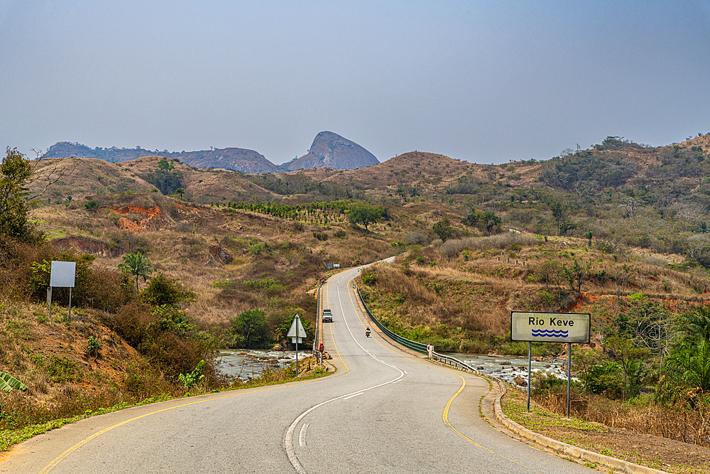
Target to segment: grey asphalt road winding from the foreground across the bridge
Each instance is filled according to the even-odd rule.
[[[333,276],[324,345],[337,373],[95,416],[36,436],[0,473],[593,473],[479,416],[486,379],[405,354]]]

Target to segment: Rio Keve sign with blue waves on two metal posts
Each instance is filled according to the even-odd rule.
[[[572,343],[589,343],[590,330],[589,313],[510,312],[510,339],[528,342],[528,412],[530,412],[532,343],[567,343],[567,418],[569,418]]]

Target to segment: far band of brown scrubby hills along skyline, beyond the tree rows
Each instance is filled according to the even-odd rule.
[[[366,199],[408,212],[437,203],[439,215],[448,216],[459,234],[467,232],[464,218],[481,210],[496,214],[503,226],[533,234],[591,232],[617,244],[687,254],[710,266],[710,188],[702,180],[710,173],[709,144],[709,136],[657,148],[608,137],[592,149],[565,151],[548,161],[479,165],[415,151],[356,170],[259,175],[190,168],[155,156],[116,164],[87,161],[72,164],[79,171],[48,190],[47,200],[140,192],[153,185],[168,194],[182,188],[183,197],[195,203]],[[159,170],[161,161],[174,169]],[[45,163],[51,161],[39,166],[49,169]],[[41,180],[33,190],[40,185]]]

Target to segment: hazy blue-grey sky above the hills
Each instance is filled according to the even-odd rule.
[[[334,131],[385,161],[548,159],[710,131],[710,1],[0,0],[0,146]]]

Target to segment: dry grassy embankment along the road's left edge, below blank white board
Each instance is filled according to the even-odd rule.
[[[0,371],[12,373],[26,392],[0,392],[0,451],[14,443],[87,416],[207,392],[295,381],[295,367],[265,370],[249,380],[215,377],[187,388],[166,377],[149,355],[133,349],[100,320],[105,314],[43,304],[3,301],[0,309]],[[92,350],[87,341],[101,346]],[[310,358],[300,361],[298,380],[327,375]],[[208,367],[211,370],[211,367]],[[207,372],[207,370],[205,371]]]

